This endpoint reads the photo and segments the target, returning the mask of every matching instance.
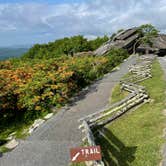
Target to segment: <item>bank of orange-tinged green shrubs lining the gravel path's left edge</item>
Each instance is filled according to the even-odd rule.
[[[128,54],[112,50],[103,57],[56,58],[0,62],[0,139],[11,130],[44,116],[50,107],[61,107],[83,87],[110,72]]]

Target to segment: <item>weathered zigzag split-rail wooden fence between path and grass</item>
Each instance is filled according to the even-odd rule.
[[[136,83],[152,77],[151,68],[152,62],[155,58],[156,55],[153,54],[142,55],[139,58],[139,62],[137,62],[135,65],[129,66],[129,77],[120,81],[121,89],[130,92],[126,98],[112,105],[107,105],[96,113],[79,119],[79,122],[81,122],[79,128],[81,128],[85,133],[85,138],[83,138],[83,141],[87,140],[89,146],[96,145],[93,134],[94,128],[97,128],[99,133],[101,133],[100,129],[102,129],[102,127],[104,127],[106,124],[119,118],[131,108],[143,103],[149,98],[145,87]],[[104,166],[103,161],[87,162],[86,164],[88,166]]]

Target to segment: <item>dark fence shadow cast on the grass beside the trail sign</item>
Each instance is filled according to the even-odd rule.
[[[135,160],[137,147],[127,147],[110,130],[103,128],[104,136],[98,136],[97,143],[100,144],[103,161],[106,166],[129,166]]]

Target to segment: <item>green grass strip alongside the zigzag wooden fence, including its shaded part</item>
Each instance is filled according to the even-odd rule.
[[[156,166],[161,160],[166,86],[158,61],[153,63],[152,75],[151,79],[141,83],[153,99],[152,102],[107,125],[103,130],[105,136],[97,139],[107,166]],[[117,96],[119,89],[114,89],[112,101],[122,98]]]

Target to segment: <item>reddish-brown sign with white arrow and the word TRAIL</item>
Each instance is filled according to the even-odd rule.
[[[100,146],[80,147],[70,150],[71,162],[101,160]]]

